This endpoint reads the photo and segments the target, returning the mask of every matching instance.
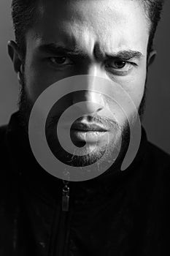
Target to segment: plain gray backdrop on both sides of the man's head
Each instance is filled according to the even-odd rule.
[[[9,0],[0,1],[0,125],[17,110],[18,81],[7,55],[7,41],[14,39]],[[155,37],[158,56],[150,67],[144,127],[150,141],[170,154],[170,1],[163,8]]]

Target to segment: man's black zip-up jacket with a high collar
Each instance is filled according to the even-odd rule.
[[[42,170],[18,125],[0,129],[0,256],[169,256],[170,157],[142,142],[127,170],[63,182]]]

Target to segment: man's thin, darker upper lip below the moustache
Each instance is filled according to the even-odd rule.
[[[72,129],[77,129],[80,131],[95,131],[95,132],[107,132],[107,129],[98,125],[98,124],[84,124],[84,123],[76,123],[72,124]]]

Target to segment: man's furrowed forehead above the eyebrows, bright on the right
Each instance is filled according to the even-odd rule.
[[[103,50],[118,51],[147,45],[149,25],[136,0],[48,0],[39,10],[39,23],[28,33],[36,38],[35,46],[58,42],[89,50],[97,43]]]

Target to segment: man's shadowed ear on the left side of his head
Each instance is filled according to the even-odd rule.
[[[9,57],[13,62],[15,72],[18,74],[18,72],[22,72],[23,56],[16,42],[9,41],[7,46]]]

